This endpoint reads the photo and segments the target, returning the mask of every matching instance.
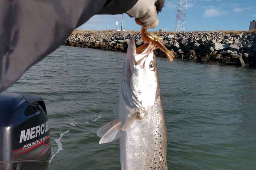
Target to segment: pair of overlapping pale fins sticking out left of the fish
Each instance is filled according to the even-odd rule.
[[[97,135],[101,137],[99,144],[109,143],[120,137],[121,122],[115,119],[108,122],[97,131]]]

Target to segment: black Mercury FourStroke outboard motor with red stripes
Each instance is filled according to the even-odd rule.
[[[50,131],[43,99],[0,93],[0,170],[46,170]]]

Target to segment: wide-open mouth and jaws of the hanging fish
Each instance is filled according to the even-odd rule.
[[[129,41],[127,56],[125,62],[125,70],[126,73],[133,73],[134,68],[137,65],[144,67],[144,62],[149,53],[152,50],[152,42],[141,45],[136,49],[135,42],[133,39]]]

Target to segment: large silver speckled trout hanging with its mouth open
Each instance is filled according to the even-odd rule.
[[[167,170],[167,133],[152,43],[137,54],[130,40],[120,84],[118,119],[100,128],[100,144],[119,139],[122,170]]]

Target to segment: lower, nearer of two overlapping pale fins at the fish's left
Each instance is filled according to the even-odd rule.
[[[109,143],[117,140],[120,137],[120,129],[121,129],[121,122],[118,122],[114,126],[112,126],[107,133],[105,133],[101,137],[99,144],[105,144],[105,143]]]

